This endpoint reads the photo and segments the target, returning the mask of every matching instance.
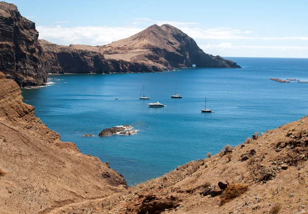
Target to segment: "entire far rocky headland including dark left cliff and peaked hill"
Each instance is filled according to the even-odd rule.
[[[171,25],[152,25],[104,46],[56,45],[38,40],[35,23],[13,4],[0,2],[0,70],[18,85],[45,85],[46,73],[161,72],[175,68],[240,68],[204,53]]]

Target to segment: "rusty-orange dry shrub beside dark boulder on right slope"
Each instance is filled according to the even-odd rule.
[[[220,206],[241,196],[247,190],[248,185],[245,184],[233,184],[228,186],[221,195]]]

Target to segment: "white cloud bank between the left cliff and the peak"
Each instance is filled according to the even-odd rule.
[[[143,30],[138,27],[62,27],[60,25],[50,27],[37,26],[36,29],[40,32],[40,38],[61,45],[104,45],[129,37]]]

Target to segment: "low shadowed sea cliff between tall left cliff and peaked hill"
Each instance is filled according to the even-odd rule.
[[[106,60],[98,51],[83,50],[69,46],[56,45],[39,40],[43,47],[43,61],[46,72],[50,73],[128,73],[159,71],[155,66]]]

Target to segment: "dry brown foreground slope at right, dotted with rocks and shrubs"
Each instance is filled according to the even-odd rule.
[[[305,117],[66,213],[308,213],[307,130]]]

